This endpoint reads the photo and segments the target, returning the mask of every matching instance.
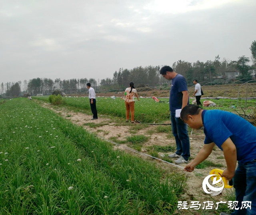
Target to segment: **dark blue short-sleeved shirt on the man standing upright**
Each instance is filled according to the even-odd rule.
[[[178,74],[172,79],[172,86],[170,91],[169,106],[170,111],[175,113],[176,109],[182,108],[182,91],[188,91],[186,79]],[[188,98],[189,104],[189,98]]]

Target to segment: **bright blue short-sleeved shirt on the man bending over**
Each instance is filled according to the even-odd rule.
[[[221,110],[203,111],[205,141],[214,142],[222,151],[222,143],[230,137],[236,146],[237,160],[246,163],[256,159],[256,127],[242,117]]]

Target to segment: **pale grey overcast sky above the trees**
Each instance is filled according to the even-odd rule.
[[[0,0],[0,82],[251,57],[256,0]]]

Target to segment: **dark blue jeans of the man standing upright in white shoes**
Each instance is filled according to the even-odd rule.
[[[180,119],[175,117],[175,113],[171,113],[172,134],[175,137],[177,145],[177,155],[181,155],[187,161],[190,157],[190,143],[188,137],[188,125]]]

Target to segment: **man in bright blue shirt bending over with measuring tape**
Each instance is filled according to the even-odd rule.
[[[180,113],[181,119],[195,129],[204,126],[204,147],[195,159],[186,165],[186,171],[204,161],[217,145],[223,152],[227,168],[222,174],[227,180],[232,180],[236,189],[236,201],[240,209],[236,215],[256,214],[256,127],[235,115],[221,110],[203,110],[196,105],[184,107]],[[238,167],[236,169],[236,161]],[[241,209],[242,201],[251,201],[251,209]],[[225,213],[220,213],[225,214]]]

